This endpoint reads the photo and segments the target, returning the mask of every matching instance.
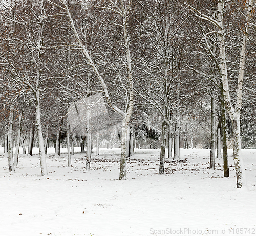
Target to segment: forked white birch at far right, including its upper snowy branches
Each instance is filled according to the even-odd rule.
[[[225,24],[224,24],[224,11],[225,5],[224,0],[218,1],[218,20],[209,17],[208,15],[202,13],[191,5],[186,4],[194,13],[201,19],[211,22],[216,28],[218,38],[219,38],[219,50],[220,50],[220,66],[221,66],[221,78],[223,84],[223,98],[225,101],[225,107],[227,113],[230,116],[233,126],[233,158],[235,163],[235,169],[237,174],[237,188],[247,186],[245,178],[245,169],[243,166],[243,158],[241,155],[241,137],[240,137],[240,117],[241,117],[241,107],[242,107],[242,84],[244,77],[244,66],[245,66],[245,55],[246,55],[246,45],[250,27],[250,21],[252,17],[252,12],[254,9],[254,1],[248,0],[245,2],[245,5],[240,5],[240,11],[246,12],[244,14],[244,26],[243,28],[243,40],[240,44],[241,54],[240,54],[240,68],[238,72],[237,79],[237,101],[235,106],[232,105],[230,97],[230,86],[228,84],[228,67],[227,67],[227,58],[226,58],[226,42],[225,42]],[[237,6],[237,7],[238,7]],[[245,7],[246,6],[246,7]],[[226,14],[227,15],[227,14]],[[211,32],[213,33],[213,32]]]

